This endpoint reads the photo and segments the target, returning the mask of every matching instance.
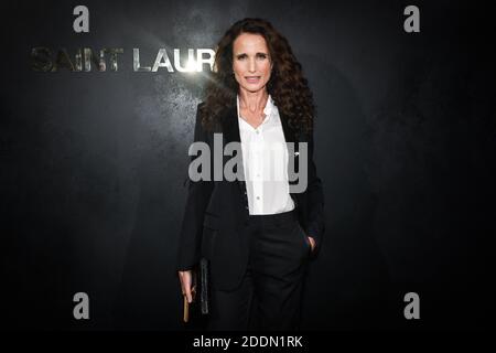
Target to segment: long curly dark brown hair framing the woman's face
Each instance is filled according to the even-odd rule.
[[[233,43],[241,33],[265,38],[273,61],[267,90],[291,128],[310,132],[313,129],[315,106],[302,66],[288,40],[267,20],[246,18],[234,23],[217,44],[213,72],[205,86],[205,103],[201,106],[202,124],[207,130],[218,122],[222,113],[236,101],[239,84],[233,75]]]

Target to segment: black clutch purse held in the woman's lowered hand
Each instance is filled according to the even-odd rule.
[[[208,259],[201,258],[200,264],[193,269],[193,301],[188,303],[186,297],[184,297],[183,320],[186,323],[203,321],[203,317],[209,313],[208,267]]]

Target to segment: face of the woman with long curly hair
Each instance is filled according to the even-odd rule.
[[[270,78],[272,58],[260,34],[241,33],[233,43],[233,71],[240,89],[258,92]]]

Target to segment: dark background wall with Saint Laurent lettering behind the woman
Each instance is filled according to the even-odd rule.
[[[472,2],[473,3],[473,2]],[[494,63],[468,1],[85,1],[2,4],[4,328],[181,329],[174,271],[201,74],[136,73],[161,47],[215,49],[245,17],[290,41],[317,106],[327,228],[304,328],[493,327]],[[417,4],[421,32],[402,14]],[[494,41],[494,39],[493,39]],[[117,73],[39,73],[34,46],[123,47]],[[73,295],[90,320],[73,318]],[[403,296],[420,296],[418,321]]]

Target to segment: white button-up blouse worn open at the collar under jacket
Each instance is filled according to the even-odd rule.
[[[241,118],[239,95],[237,108],[249,214],[293,210],[288,183],[288,149],[278,107],[269,95],[263,108],[266,118],[257,128]]]

